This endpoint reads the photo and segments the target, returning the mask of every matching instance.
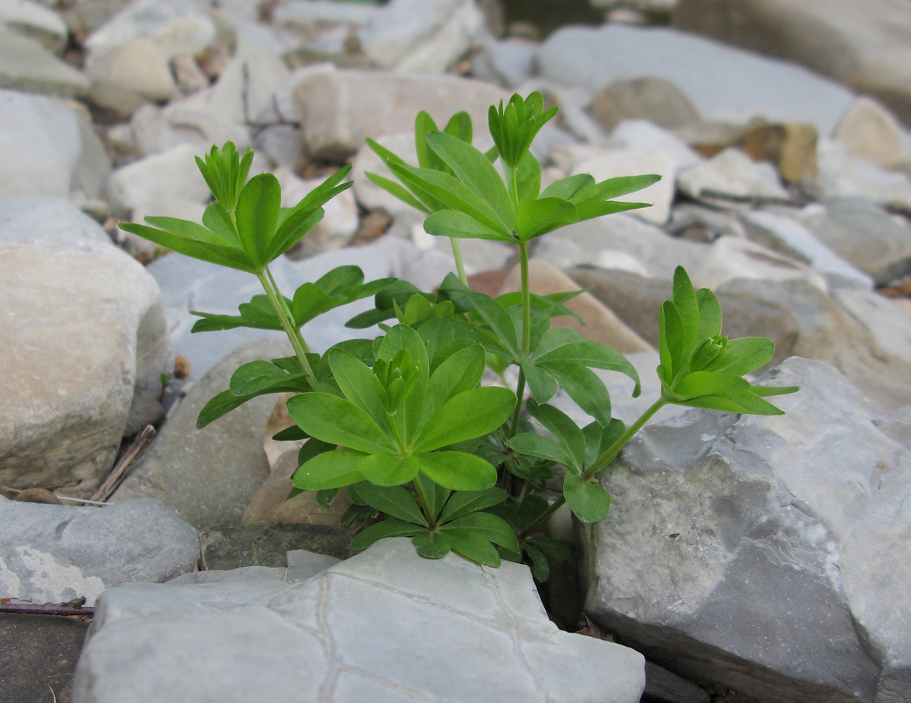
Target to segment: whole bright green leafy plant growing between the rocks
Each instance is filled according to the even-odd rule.
[[[457,113],[443,131],[421,113],[415,120],[416,167],[368,140],[399,182],[368,177],[423,210],[427,232],[453,239],[459,275],[448,275],[434,292],[403,280],[364,283],[363,272],[349,266],[305,283],[292,299],[283,297],[269,261],[322,217],[322,203],[349,185],[342,182],[348,169],[295,208],[279,209],[275,179],[262,174],[247,181],[251,152],[241,158],[230,143],[200,161],[216,199],[203,226],[168,218],[147,218],[158,229],[123,226],[161,246],[260,278],[265,296],[242,304],[236,316],[196,312],[200,320],[193,331],[281,329],[295,355],[241,366],[230,388],[203,408],[198,426],[257,395],[296,393],[288,401],[296,425],[274,437],[307,440],[292,494],[317,491],[317,500],[329,504],[345,489],[352,501],[348,524],[382,517],[365,526],[353,548],[411,536],[427,557],[454,550],[487,565],[524,559],[545,580],[550,560],[568,558],[571,545],[542,535],[541,525],[564,503],[583,522],[607,515],[610,496],[597,474],[660,407],[777,414],[764,397],[797,390],[753,386],[742,378],[769,362],[772,342],[722,337],[718,301],[710,290],[693,290],[678,268],[672,300],[660,311],[660,398],[629,427],[611,417],[608,390],[592,370],[626,374],[635,382],[634,395],[640,392],[638,373],[608,345],[551,328],[552,317],[573,314],[565,303],[577,293],[530,292],[528,243],[573,222],[646,207],[615,198],[659,177],[596,183],[583,174],[541,191],[541,167],[529,147],[555,111],[544,111],[537,93],[491,107],[495,147],[486,154],[471,145],[466,113]],[[517,246],[521,291],[494,298],[469,290],[457,247],[457,239],[465,238]],[[309,351],[300,333],[304,322],[371,295],[374,308],[348,326],[379,324],[383,334],[343,341],[322,355]],[[510,365],[518,369],[515,392],[479,385],[485,367],[502,379]],[[594,422],[580,428],[548,405],[558,386]],[[554,483],[558,466],[565,468],[561,487]],[[548,500],[554,488],[559,493]]]

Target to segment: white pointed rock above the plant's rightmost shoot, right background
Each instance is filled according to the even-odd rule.
[[[687,270],[696,288],[714,290],[725,281],[734,279],[802,279],[828,292],[825,279],[805,264],[752,241],[734,237],[716,239],[701,262]]]

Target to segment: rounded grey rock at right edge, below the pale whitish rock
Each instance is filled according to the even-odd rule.
[[[865,198],[835,198],[804,209],[801,222],[842,259],[865,270],[876,285],[911,273],[911,227]]]

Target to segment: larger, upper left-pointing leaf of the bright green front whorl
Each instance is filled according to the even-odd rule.
[[[396,452],[373,418],[351,401],[329,393],[311,392],[295,395],[287,404],[292,420],[323,442],[368,453]]]

